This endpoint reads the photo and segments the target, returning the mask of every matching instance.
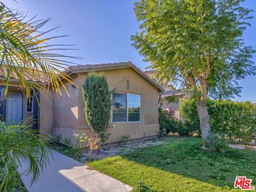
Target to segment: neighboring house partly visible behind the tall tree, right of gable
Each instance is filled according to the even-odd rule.
[[[153,75],[154,75],[155,70],[146,70],[145,73],[151,78],[153,79]],[[160,103],[162,103],[161,107],[163,109],[168,109],[171,108],[172,110],[175,111],[175,118],[181,120],[182,117],[180,115],[180,111],[179,111],[179,107],[180,104],[183,100],[183,93],[180,90],[175,90],[171,85],[166,86],[164,88],[164,92],[162,92],[161,94],[159,94],[161,96],[161,100]],[[168,100],[168,98],[170,97],[175,97],[175,102],[170,102]]]

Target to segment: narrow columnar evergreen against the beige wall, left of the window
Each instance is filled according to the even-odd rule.
[[[85,118],[92,130],[106,141],[109,137],[111,91],[103,73],[90,72],[83,85]],[[107,137],[107,138],[106,138]]]

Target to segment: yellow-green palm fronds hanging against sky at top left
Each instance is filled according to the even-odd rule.
[[[71,77],[61,71],[73,63],[66,59],[80,58],[57,53],[60,50],[74,50],[67,48],[68,45],[49,44],[51,39],[66,35],[44,37],[58,27],[39,31],[51,19],[26,19],[26,14],[10,10],[3,3],[1,6],[0,1],[0,75],[6,78],[7,87],[13,78],[17,79],[28,97],[33,87],[40,92],[52,87],[54,92],[61,94],[60,87],[65,86],[60,83],[61,80],[69,79],[72,83]]]

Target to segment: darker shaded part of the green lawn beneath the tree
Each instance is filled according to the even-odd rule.
[[[236,176],[246,176],[256,184],[255,151],[229,149],[226,153],[201,150],[202,140],[187,138],[162,146],[138,148],[122,157],[138,164],[233,188]],[[163,178],[162,178],[163,179]]]

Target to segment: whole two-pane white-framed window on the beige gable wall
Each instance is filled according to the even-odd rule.
[[[113,93],[112,122],[140,122],[141,95],[133,93]]]

